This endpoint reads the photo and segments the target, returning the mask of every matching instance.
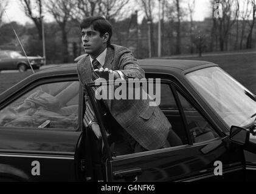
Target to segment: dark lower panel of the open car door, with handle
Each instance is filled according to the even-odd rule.
[[[202,150],[208,148],[208,152]],[[134,175],[128,178],[114,176],[117,172],[129,169],[141,169],[138,173],[137,181],[202,181],[207,179],[220,179],[214,175],[214,161],[223,162],[223,176],[225,179],[230,173],[242,173],[243,164],[238,160],[240,157],[227,154],[225,139],[217,139],[198,146],[182,146],[180,148],[157,150],[155,152],[145,152],[134,154],[133,156],[117,157],[110,161],[111,181],[131,181]],[[241,155],[240,150],[234,150],[235,155]],[[230,167],[230,164],[235,164]],[[108,169],[110,170],[110,168]],[[233,170],[232,172],[230,170]],[[134,179],[135,180],[135,179]]]

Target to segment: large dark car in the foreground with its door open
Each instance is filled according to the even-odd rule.
[[[37,72],[0,95],[1,181],[255,180],[255,95],[211,62],[139,64],[148,81],[161,78],[159,107],[181,146],[114,153],[106,132],[116,121],[105,119],[92,83],[86,90],[103,139],[84,127],[77,67],[65,65]]]

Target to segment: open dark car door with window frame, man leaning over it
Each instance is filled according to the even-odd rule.
[[[202,135],[196,137],[198,141],[193,141],[192,135],[195,134],[190,129],[188,121],[188,118],[192,116],[188,115],[182,106],[182,101],[190,98],[187,97],[184,90],[178,90],[179,87],[174,82],[169,81],[168,84],[170,84],[170,91],[174,93],[174,102],[178,104],[178,112],[181,114],[180,120],[183,122],[181,126],[184,127],[184,129],[176,130],[184,130],[189,141],[184,141],[182,146],[121,156],[115,155],[113,144],[109,141],[111,139],[106,135],[109,129],[106,128],[107,125],[104,122],[105,112],[102,110],[100,101],[95,100],[92,89],[94,84],[86,86],[100,125],[105,147],[102,151],[105,153],[105,157],[101,159],[104,181],[231,181],[243,179],[242,150],[238,146],[230,146],[228,136],[217,133],[216,125],[210,119],[202,120],[204,116],[199,117],[199,115],[206,115],[206,113],[198,105],[195,105],[194,101],[191,101],[195,110],[198,110],[196,115],[192,115],[193,118],[195,116],[200,118],[198,124],[203,122],[207,128],[211,127],[212,132],[216,132],[215,136]],[[167,87],[163,88],[167,89]],[[223,176],[216,176],[214,173],[216,161],[223,162]]]

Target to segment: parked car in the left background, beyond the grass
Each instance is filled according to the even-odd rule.
[[[41,56],[28,56],[33,69],[40,69],[44,65],[44,58]],[[0,72],[1,70],[19,70],[25,72],[30,69],[26,56],[13,50],[0,50]]]

